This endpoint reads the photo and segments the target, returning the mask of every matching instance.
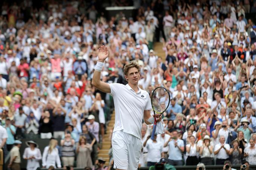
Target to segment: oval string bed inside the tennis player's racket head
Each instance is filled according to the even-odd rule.
[[[158,88],[152,93],[152,108],[157,113],[163,113],[168,107],[168,92],[163,88]]]

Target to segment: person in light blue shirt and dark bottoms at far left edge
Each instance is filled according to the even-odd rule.
[[[12,149],[12,146],[14,144],[14,136],[16,132],[16,128],[14,125],[11,124],[11,120],[9,117],[6,117],[5,119],[5,126],[8,138],[6,140],[7,150],[10,151]]]

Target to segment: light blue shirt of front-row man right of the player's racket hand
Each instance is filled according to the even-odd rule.
[[[184,142],[183,140],[178,139],[177,140],[178,147],[175,147],[174,144],[175,144],[174,140],[171,140],[168,143],[168,146],[169,146],[168,159],[175,160],[175,161],[182,160],[182,152],[180,151],[180,149],[178,149],[178,147],[184,147]]]

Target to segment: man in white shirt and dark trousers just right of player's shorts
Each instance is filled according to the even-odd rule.
[[[154,136],[154,140],[149,140],[151,136],[147,137],[147,140],[143,143],[143,146],[148,149],[147,166],[153,166],[163,158],[163,146],[158,142],[157,134]]]

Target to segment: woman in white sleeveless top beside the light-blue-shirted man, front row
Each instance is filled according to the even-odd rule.
[[[198,147],[197,144],[195,144],[195,137],[191,135],[189,137],[189,144],[186,144],[186,165],[197,165],[198,159],[197,159],[197,151]]]

